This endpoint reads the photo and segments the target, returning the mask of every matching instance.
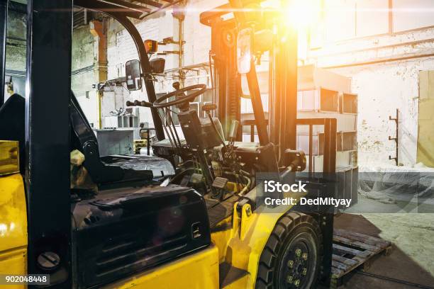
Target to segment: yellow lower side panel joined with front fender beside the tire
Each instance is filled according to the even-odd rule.
[[[236,206],[237,204],[234,212]],[[252,212],[250,205],[246,204],[241,216],[230,216],[217,225],[228,229],[211,234],[213,245],[210,248],[105,288],[221,288],[218,266],[223,262],[247,271],[245,276],[226,285],[225,289],[255,288],[262,250],[274,225],[289,209],[289,206],[259,208],[257,212]]]

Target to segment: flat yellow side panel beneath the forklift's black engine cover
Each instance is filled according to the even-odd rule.
[[[217,289],[218,249],[211,246],[196,254],[112,283],[105,288]]]

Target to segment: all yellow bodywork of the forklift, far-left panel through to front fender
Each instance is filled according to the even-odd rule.
[[[226,262],[247,274],[226,289],[255,288],[257,267],[269,235],[290,206],[260,207],[252,212],[245,204],[238,214],[220,222],[211,234],[213,245],[177,261],[138,273],[106,288],[220,288],[219,264]],[[26,274],[26,195],[20,174],[0,176],[0,273]],[[25,288],[24,285],[8,288]]]

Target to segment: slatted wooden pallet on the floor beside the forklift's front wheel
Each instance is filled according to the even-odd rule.
[[[330,288],[338,288],[343,277],[356,268],[367,270],[374,256],[380,253],[389,254],[390,249],[391,243],[384,239],[345,229],[334,229]]]

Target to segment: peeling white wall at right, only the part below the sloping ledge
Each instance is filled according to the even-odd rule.
[[[335,69],[352,77],[352,92],[359,96],[357,140],[359,163],[394,164],[396,126],[389,120],[399,109],[399,162],[416,163],[418,139],[418,72],[433,70],[434,58]]]

